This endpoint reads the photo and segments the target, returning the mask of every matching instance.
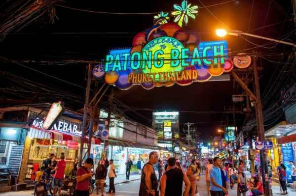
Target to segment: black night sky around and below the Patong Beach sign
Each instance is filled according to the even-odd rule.
[[[189,2],[202,7],[199,0],[189,0]],[[203,0],[202,2],[205,5],[212,5],[223,1]],[[172,11],[174,3],[181,4],[181,0],[65,0],[60,4],[94,11],[147,13]],[[224,28],[224,26],[272,38],[283,36],[295,28],[294,21],[291,20],[293,9],[290,1],[254,0],[253,9],[252,3],[253,0],[236,0],[218,6],[212,6],[208,9],[200,8],[196,20],[189,19],[188,26],[185,27],[185,30],[199,32],[203,41],[211,41],[218,39],[214,34],[215,29]],[[2,8],[5,8],[5,6],[6,5],[3,5]],[[100,60],[104,58],[110,49],[131,47],[133,36],[151,27],[153,22],[153,14],[98,14],[75,11],[58,6],[56,6],[56,15],[58,20],[55,20],[53,24],[46,23],[48,22],[48,17],[43,16],[19,32],[7,35],[4,41],[0,43],[1,56],[20,61],[61,61],[68,59]],[[251,21],[249,23],[250,18]],[[260,28],[275,23],[279,24]],[[227,36],[225,39],[231,51],[255,47],[239,37]],[[249,38],[249,40],[259,45],[266,43],[266,41],[259,39]],[[261,54],[271,54],[272,52],[285,53],[291,51],[291,47],[276,45],[273,49],[258,47],[255,50]],[[251,52],[251,50],[247,52]],[[263,91],[271,75],[274,73],[274,70],[276,70],[276,65],[262,59],[260,60],[263,63],[263,71],[260,73],[260,83]],[[22,64],[71,83],[86,86],[85,64]],[[7,61],[1,61],[1,70],[29,79],[37,84],[57,88],[61,94],[67,91],[67,93],[72,93],[80,97],[79,101],[83,101],[84,89],[82,88],[57,81]],[[19,83],[14,83],[13,80],[9,81],[3,79],[3,81],[4,82],[1,83],[2,88],[20,85]],[[102,83],[99,83],[99,85],[101,84]],[[252,85],[250,85],[250,87],[252,88]],[[38,88],[39,86],[37,85],[32,91],[38,91]],[[92,88],[94,88],[94,86],[92,86]],[[22,86],[22,89],[27,88]],[[225,108],[232,107],[232,94],[241,92],[241,88],[239,88],[237,84],[234,86],[233,80],[231,80],[229,82],[194,83],[189,86],[179,86],[176,84],[173,87],[160,87],[152,90],[144,90],[141,86],[134,86],[129,90],[115,89],[115,98],[128,106],[149,109],[139,110],[138,112],[151,118],[150,110],[152,109],[223,111]],[[10,93],[2,95],[1,98],[3,98],[3,96],[24,99]],[[37,94],[37,97],[39,96],[40,95]],[[35,99],[35,101],[50,100],[49,98],[53,100],[56,99],[54,95],[49,97],[48,94],[43,94],[42,96],[44,96],[44,99]],[[67,95],[62,97],[65,98],[65,96]],[[76,104],[71,103],[71,107],[82,108],[82,102],[79,101],[77,101]],[[107,99],[105,98],[104,101],[107,101]],[[243,106],[239,105],[237,107]],[[145,118],[136,113],[132,115],[140,122],[149,123]],[[196,114],[193,112],[181,112],[180,114],[181,123],[187,121],[198,123],[196,127],[202,132],[202,137],[204,138],[213,135],[215,129],[221,126],[220,121],[226,121],[227,119],[229,125],[232,125],[232,114]],[[244,115],[237,115],[236,120],[237,125],[242,125]]]

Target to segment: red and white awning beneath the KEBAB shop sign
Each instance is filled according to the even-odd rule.
[[[55,130],[44,130],[39,127],[32,126],[30,127],[30,131],[28,132],[28,137],[30,138],[38,138],[38,139],[52,139],[52,140],[73,140],[80,143],[80,136],[74,134],[61,133]],[[88,136],[84,138],[84,142],[88,142]],[[92,144],[101,144],[101,140],[97,138],[92,138]]]

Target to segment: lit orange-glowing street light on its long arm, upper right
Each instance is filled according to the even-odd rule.
[[[247,35],[247,36],[250,36],[250,37],[256,37],[256,38],[259,38],[259,39],[265,39],[265,40],[273,41],[273,42],[276,42],[276,43],[290,45],[290,46],[293,46],[293,47],[296,48],[296,44],[293,44],[293,43],[290,43],[290,42],[285,42],[285,41],[278,40],[278,39],[272,39],[272,38],[269,38],[269,37],[264,37],[264,36],[259,36],[259,35],[255,35],[255,34],[251,34],[251,33],[246,33],[246,32],[242,32],[240,30],[226,30],[226,29],[223,29],[223,28],[218,28],[218,29],[216,29],[216,35],[219,36],[219,37],[224,37],[225,35],[234,35],[234,36]]]

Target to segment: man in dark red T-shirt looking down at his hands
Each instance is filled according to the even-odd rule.
[[[89,196],[89,184],[93,175],[91,168],[94,165],[92,158],[87,158],[84,165],[76,173],[76,187],[74,196]]]

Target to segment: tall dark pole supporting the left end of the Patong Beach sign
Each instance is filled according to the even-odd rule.
[[[87,73],[87,84],[85,90],[85,103],[84,103],[84,111],[83,111],[83,122],[82,122],[82,133],[80,138],[80,152],[79,152],[79,166],[81,167],[82,159],[83,159],[83,147],[84,147],[84,138],[86,132],[86,123],[87,123],[87,110],[88,110],[88,101],[89,101],[89,93],[90,93],[90,84],[91,84],[91,64],[88,64],[88,73]]]

